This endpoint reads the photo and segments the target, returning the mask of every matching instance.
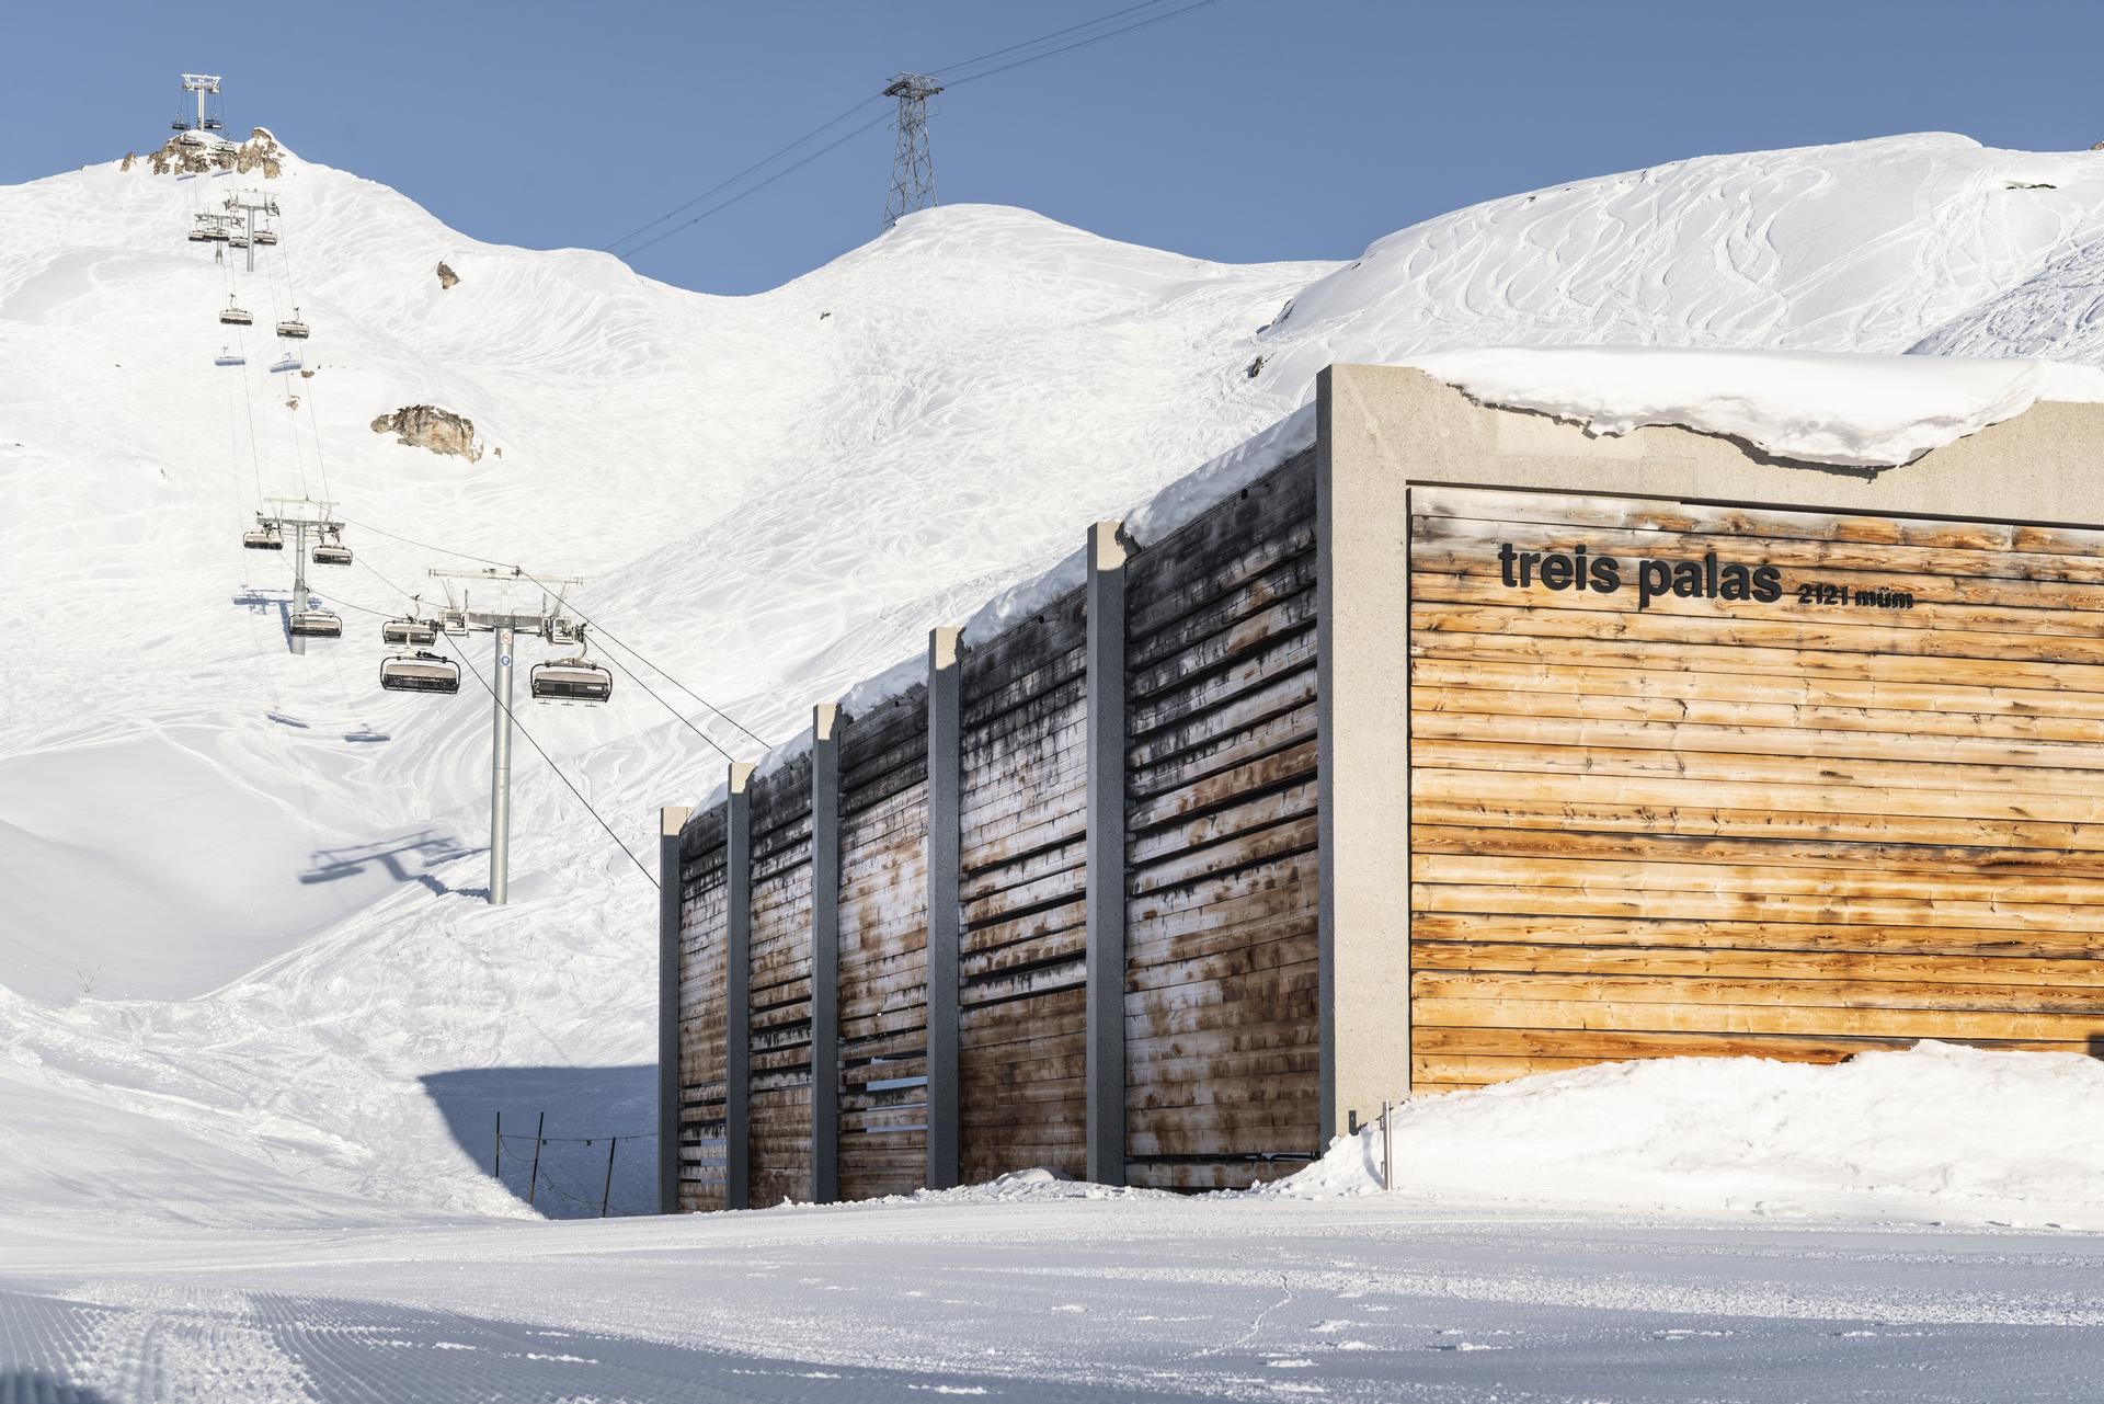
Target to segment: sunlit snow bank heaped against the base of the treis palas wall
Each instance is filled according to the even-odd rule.
[[[1405,1196],[2104,1227],[2104,1063],[1925,1042],[1847,1063],[1605,1063],[1393,1111]],[[1380,1126],[1258,1189],[1380,1189]]]

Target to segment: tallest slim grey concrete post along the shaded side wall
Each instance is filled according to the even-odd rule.
[[[1126,1183],[1126,543],[1088,528],[1088,1179]]]

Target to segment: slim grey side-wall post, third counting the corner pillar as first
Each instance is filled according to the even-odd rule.
[[[959,808],[964,794],[964,629],[928,634],[928,1187],[962,1172],[957,960],[964,943]]]

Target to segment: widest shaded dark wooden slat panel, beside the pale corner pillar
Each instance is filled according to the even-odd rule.
[[[1126,1177],[1248,1185],[1321,1141],[1313,450],[1126,591]]]

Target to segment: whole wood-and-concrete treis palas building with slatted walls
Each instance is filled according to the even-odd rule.
[[[2100,446],[2041,404],[1837,474],[1328,370],[1313,448],[667,810],[665,1208],[1246,1185],[1601,1059],[2104,1046]]]

